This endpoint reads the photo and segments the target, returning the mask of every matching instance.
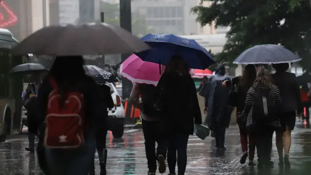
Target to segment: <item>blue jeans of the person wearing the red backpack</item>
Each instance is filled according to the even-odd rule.
[[[96,139],[93,132],[88,132],[85,137],[85,144],[79,149],[46,149],[51,175],[88,175],[94,161]]]

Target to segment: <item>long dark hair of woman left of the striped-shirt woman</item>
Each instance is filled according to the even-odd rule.
[[[257,76],[256,68],[254,65],[246,65],[245,69],[243,70],[242,77],[240,79],[240,85],[243,88],[249,89]]]

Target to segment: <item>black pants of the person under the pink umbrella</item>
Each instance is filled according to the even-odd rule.
[[[159,155],[166,158],[167,152],[167,132],[165,123],[159,121],[142,120],[142,131],[145,139],[145,151],[150,172],[156,172],[156,160]],[[155,153],[155,142],[157,148]]]

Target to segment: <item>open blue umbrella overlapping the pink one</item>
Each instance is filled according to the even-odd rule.
[[[189,68],[205,70],[215,63],[211,55],[195,40],[173,34],[148,34],[141,38],[152,49],[136,53],[139,58],[158,64],[166,64],[173,55],[179,54]]]

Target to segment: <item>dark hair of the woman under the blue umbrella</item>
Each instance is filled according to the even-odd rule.
[[[182,74],[189,74],[189,67],[180,55],[173,55],[170,61],[166,64],[165,72],[180,71]]]

